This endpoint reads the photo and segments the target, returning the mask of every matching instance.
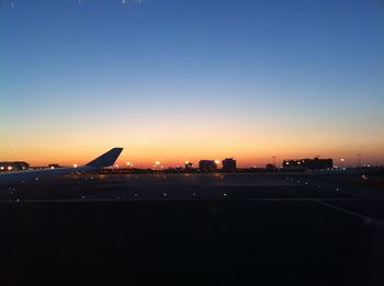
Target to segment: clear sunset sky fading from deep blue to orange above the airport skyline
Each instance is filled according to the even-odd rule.
[[[384,163],[381,0],[0,0],[0,161]]]

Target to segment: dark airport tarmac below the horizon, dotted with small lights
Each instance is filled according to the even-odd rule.
[[[370,190],[268,175],[12,190],[0,192],[0,285],[384,285],[384,205],[359,195]]]

